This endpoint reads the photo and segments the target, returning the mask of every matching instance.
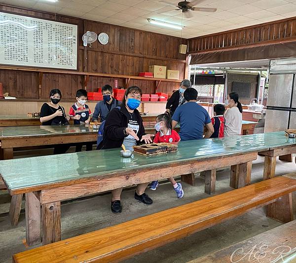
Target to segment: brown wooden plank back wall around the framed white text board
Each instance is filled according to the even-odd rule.
[[[179,37],[18,8],[6,4],[0,4],[0,10],[77,24],[79,39],[77,62],[79,71],[138,75],[139,72],[148,71],[149,65],[160,65],[167,66],[168,69],[179,70],[180,79],[184,78],[185,55],[179,54],[179,44],[181,43]],[[101,45],[98,41],[95,41],[91,44],[91,47],[86,48],[85,57],[82,35],[86,31],[108,33],[109,43]],[[182,39],[182,43],[186,44],[187,40]],[[53,88],[59,88],[64,99],[74,99],[76,90],[84,86],[84,79],[81,76],[43,74],[39,96],[38,73],[14,70],[0,70],[0,82],[3,83],[4,92],[9,92],[10,96],[15,96],[18,99],[47,99],[49,91]],[[99,87],[105,84],[113,86],[114,79],[90,77],[87,90],[97,91]],[[125,80],[118,79],[118,84],[124,87]],[[155,81],[130,81],[130,85],[139,86],[144,93],[153,93]],[[163,83],[160,84],[159,91],[171,92],[178,86],[178,83]]]

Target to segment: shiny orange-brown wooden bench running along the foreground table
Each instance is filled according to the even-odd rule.
[[[267,216],[293,220],[296,180],[275,177],[218,196],[18,253],[15,263],[112,262],[162,246],[267,205]]]

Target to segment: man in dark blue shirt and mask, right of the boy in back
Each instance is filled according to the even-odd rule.
[[[111,109],[120,106],[121,104],[121,101],[113,98],[113,89],[108,84],[102,87],[102,95],[103,100],[98,102],[95,107],[92,118],[93,122],[99,122],[99,117],[101,119],[101,122],[105,121]]]

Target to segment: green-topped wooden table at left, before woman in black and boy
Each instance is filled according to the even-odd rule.
[[[98,131],[81,125],[0,128],[0,159],[13,159],[13,148],[97,141]]]

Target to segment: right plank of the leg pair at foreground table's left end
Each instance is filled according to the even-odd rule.
[[[42,204],[42,245],[61,240],[61,202]]]

